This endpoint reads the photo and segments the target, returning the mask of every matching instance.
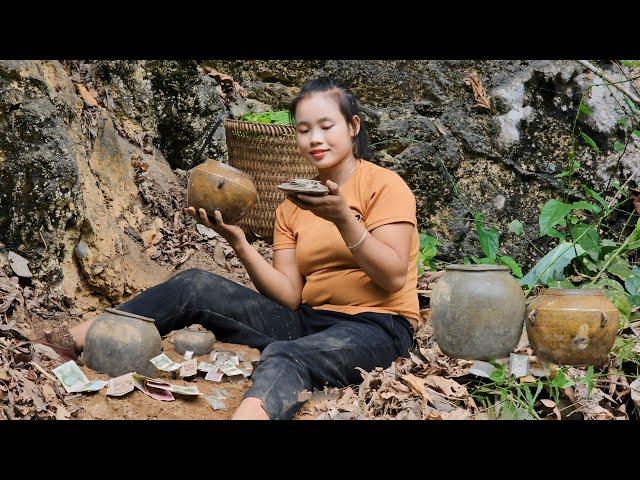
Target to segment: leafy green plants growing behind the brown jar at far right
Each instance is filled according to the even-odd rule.
[[[558,244],[536,263],[521,279],[520,284],[528,289],[527,295],[535,285],[601,288],[620,311],[624,324],[640,306],[640,268],[633,267],[630,261],[640,249],[640,219],[625,237],[627,227],[636,216],[633,211],[627,212],[627,221],[617,238],[609,235],[608,238],[605,237],[608,229],[605,220],[612,214],[623,211],[620,207],[630,200],[625,187],[631,177],[624,185],[609,182],[600,193],[580,182],[572,182],[573,174],[582,168],[575,159],[576,139],[581,138],[596,154],[601,153],[591,137],[583,131],[577,131],[579,117],[592,114],[584,103],[588,92],[589,89],[585,90],[581,96],[574,118],[573,141],[567,167],[556,175],[565,183],[564,198],[547,201],[541,208],[538,219],[539,236],[554,238],[558,240]],[[618,121],[622,127],[624,142],[615,140],[612,146],[612,150],[618,154],[618,164],[631,138],[640,136],[640,132],[634,129],[639,110],[628,98],[625,99],[625,104],[627,115]],[[609,201],[604,199],[608,188],[613,189],[612,200]],[[569,201],[569,196],[577,199]]]

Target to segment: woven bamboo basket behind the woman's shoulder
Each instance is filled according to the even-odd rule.
[[[272,242],[276,207],[285,199],[276,185],[313,178],[318,170],[298,152],[292,126],[226,118],[224,129],[229,164],[251,175],[258,190],[251,212],[238,225]]]

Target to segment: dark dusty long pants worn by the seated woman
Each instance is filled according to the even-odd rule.
[[[245,397],[257,397],[271,419],[289,419],[302,390],[360,383],[356,367],[388,367],[408,356],[413,328],[400,315],[349,315],[302,304],[289,310],[224,277],[191,269],[122,303],[151,317],[161,335],[199,323],[218,340],[262,350]]]

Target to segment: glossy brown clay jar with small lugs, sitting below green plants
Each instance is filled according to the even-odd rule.
[[[525,324],[536,356],[559,365],[602,365],[618,331],[618,309],[600,290],[542,290]]]

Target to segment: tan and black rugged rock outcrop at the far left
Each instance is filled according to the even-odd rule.
[[[0,238],[29,259],[36,286],[60,287],[69,302],[117,302],[168,273],[125,233],[140,227],[144,203],[132,160],[147,162],[161,190],[178,180],[146,143],[161,138],[154,104],[146,116],[134,116],[135,104],[122,113],[80,73],[59,62],[0,63]],[[142,105],[144,92],[127,98]]]

